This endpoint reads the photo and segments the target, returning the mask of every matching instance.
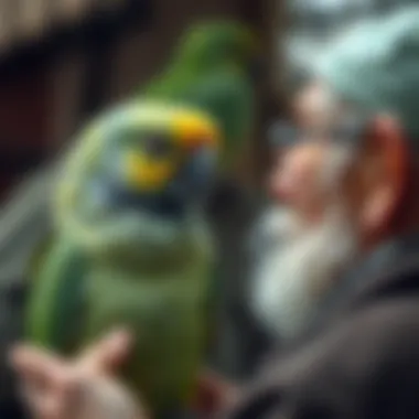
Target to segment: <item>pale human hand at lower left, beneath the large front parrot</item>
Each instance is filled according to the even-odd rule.
[[[147,419],[136,398],[114,378],[129,353],[125,331],[68,361],[33,346],[18,346],[11,364],[24,401],[36,419]]]

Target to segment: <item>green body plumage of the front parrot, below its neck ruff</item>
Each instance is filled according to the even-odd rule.
[[[74,355],[110,329],[128,326],[137,342],[123,372],[126,383],[154,411],[186,407],[207,339],[212,259],[201,240],[191,237],[193,251],[176,266],[163,256],[146,269],[127,269],[122,260],[87,264],[77,246],[61,240],[33,290],[30,339]]]

